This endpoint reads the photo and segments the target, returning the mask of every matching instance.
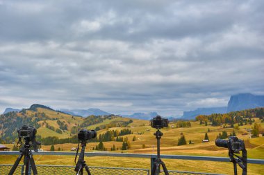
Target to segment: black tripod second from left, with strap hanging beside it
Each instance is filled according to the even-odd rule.
[[[88,173],[88,175],[91,175],[90,170],[88,165],[86,165],[85,160],[84,160],[84,151],[85,151],[85,146],[86,146],[86,142],[81,142],[81,153],[78,159],[78,162],[76,164],[76,167],[74,169],[76,173],[76,175],[83,175],[83,167],[85,168],[86,172]],[[79,145],[78,145],[78,149],[76,151],[76,156],[78,154],[79,151]],[[76,163],[76,156],[75,156],[75,163]]]

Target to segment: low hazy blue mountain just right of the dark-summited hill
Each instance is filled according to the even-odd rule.
[[[96,108],[90,108],[90,109],[60,109],[60,111],[63,111],[64,113],[69,113],[70,115],[73,116],[82,116],[82,117],[87,117],[87,116],[107,116],[110,115],[111,113],[108,113],[106,111],[102,111],[101,109],[96,109]]]

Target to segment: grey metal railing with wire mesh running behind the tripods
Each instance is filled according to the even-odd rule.
[[[18,155],[19,151],[0,151],[0,155]],[[65,151],[42,151],[33,152],[33,155],[60,155],[60,156],[75,156],[75,152]],[[110,156],[110,157],[132,157],[132,158],[151,158],[151,167],[153,167],[156,155],[154,154],[122,154],[122,153],[108,153],[108,152],[86,152],[85,156]],[[180,159],[180,160],[207,160],[217,162],[229,162],[229,158],[224,157],[211,157],[211,156],[181,156],[181,155],[160,155],[160,158],[168,159]],[[247,163],[264,165],[263,159],[247,159]],[[0,165],[0,174],[8,174],[13,165]],[[61,165],[37,165],[38,174],[76,174],[73,166],[61,166]],[[151,168],[150,168],[151,169]],[[17,167],[16,173],[20,174],[21,166]],[[92,175],[122,175],[122,174],[150,174],[149,169],[135,169],[135,168],[123,168],[123,167],[90,167]],[[199,172],[180,172],[169,171],[170,175],[187,175],[187,174],[209,174]],[[216,175],[216,174],[211,174]]]

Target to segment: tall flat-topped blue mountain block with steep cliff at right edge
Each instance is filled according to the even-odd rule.
[[[227,112],[252,109],[256,107],[264,107],[264,95],[240,93],[237,95],[231,95],[227,106]]]

